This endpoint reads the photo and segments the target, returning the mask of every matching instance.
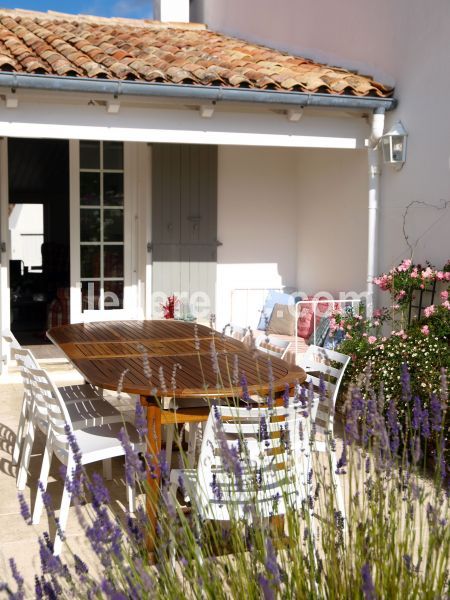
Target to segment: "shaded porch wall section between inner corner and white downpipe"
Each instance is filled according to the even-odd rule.
[[[315,294],[364,292],[367,153],[299,150],[297,285]]]

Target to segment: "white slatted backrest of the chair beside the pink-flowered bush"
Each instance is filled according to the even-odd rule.
[[[336,399],[350,356],[320,346],[308,346],[301,359],[300,366],[308,373],[307,382],[314,390],[314,401],[310,410],[316,431],[332,432]]]

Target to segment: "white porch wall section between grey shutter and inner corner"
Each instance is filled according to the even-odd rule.
[[[218,166],[218,238],[223,245],[216,299],[218,325],[223,326],[232,316],[233,289],[296,287],[298,154],[221,146]]]

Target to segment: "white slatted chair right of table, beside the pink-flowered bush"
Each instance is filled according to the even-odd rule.
[[[345,369],[350,362],[350,357],[336,350],[328,350],[320,346],[309,346],[301,356],[300,366],[307,372],[306,385],[312,384],[314,401],[310,408],[311,420],[315,424],[315,437],[313,451],[329,452],[327,435],[333,434],[334,412],[339,388],[344,377]],[[336,366],[333,366],[336,365]],[[320,377],[323,377],[323,386],[326,397],[320,399]],[[345,503],[340,485],[340,478],[336,476],[336,452],[329,452],[331,477],[336,493],[337,509],[345,518]]]

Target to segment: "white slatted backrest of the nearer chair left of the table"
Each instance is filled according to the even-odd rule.
[[[49,419],[49,435],[55,448],[68,452],[69,444],[65,426],[72,430],[72,421],[66,405],[50,376],[44,369],[28,369],[33,386],[33,396],[37,406],[45,407]]]

